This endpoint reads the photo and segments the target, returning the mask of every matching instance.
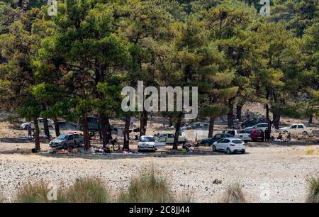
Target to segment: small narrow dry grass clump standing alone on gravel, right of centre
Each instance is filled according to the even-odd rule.
[[[245,194],[238,182],[229,184],[222,199],[223,203],[246,203]]]

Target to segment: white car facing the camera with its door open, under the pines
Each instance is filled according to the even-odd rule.
[[[138,151],[151,150],[155,151],[159,148],[166,147],[166,138],[159,138],[155,140],[153,135],[142,135],[138,142]]]

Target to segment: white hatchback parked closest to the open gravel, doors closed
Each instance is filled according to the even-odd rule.
[[[234,152],[245,154],[245,142],[238,138],[222,138],[213,143],[213,151],[216,152],[218,150],[227,152],[228,155]]]

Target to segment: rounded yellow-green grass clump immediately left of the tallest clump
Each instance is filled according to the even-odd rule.
[[[110,192],[101,179],[86,177],[76,179],[62,198],[69,203],[106,203],[111,201]]]

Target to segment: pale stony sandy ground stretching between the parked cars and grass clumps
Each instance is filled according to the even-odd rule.
[[[78,157],[10,154],[13,148],[23,150],[32,144],[1,143],[0,147],[0,189],[9,200],[17,187],[40,179],[63,187],[77,177],[101,177],[118,191],[138,171],[153,165],[169,179],[173,191],[191,192],[194,202],[218,202],[232,182],[242,184],[251,202],[303,202],[307,175],[319,172],[319,145],[251,143],[245,155],[202,148],[204,154]],[[312,155],[307,150],[313,150]],[[221,184],[214,184],[215,179]]]

